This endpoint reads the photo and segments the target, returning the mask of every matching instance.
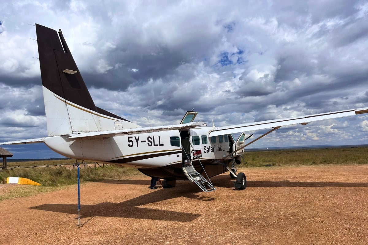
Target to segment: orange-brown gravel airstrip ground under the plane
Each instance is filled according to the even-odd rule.
[[[368,165],[246,168],[200,192],[128,176],[0,202],[0,244],[368,244]],[[11,188],[17,188],[13,185]],[[10,187],[0,187],[0,195]]]

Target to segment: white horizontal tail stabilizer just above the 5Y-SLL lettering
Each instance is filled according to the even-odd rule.
[[[71,135],[68,139],[72,138],[106,138],[112,137],[116,135],[130,135],[130,134],[143,134],[143,133],[152,133],[163,130],[174,130],[174,129],[183,129],[183,128],[191,128],[191,127],[201,127],[206,126],[205,122],[190,122],[185,124],[177,124],[177,125],[168,125],[168,126],[157,126],[157,127],[139,127],[135,129],[122,129],[122,130],[109,130],[109,131],[96,131],[90,133],[80,133]]]

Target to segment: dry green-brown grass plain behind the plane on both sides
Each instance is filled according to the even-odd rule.
[[[284,150],[246,152],[240,167],[262,166],[297,166],[297,165],[326,165],[326,164],[366,164],[368,162],[368,148],[336,148],[312,150]],[[39,166],[74,163],[75,160],[56,160],[38,162],[11,162],[12,166]],[[140,174],[137,169],[130,167],[98,167],[81,168],[81,181],[97,181],[103,179],[118,179],[125,175]],[[66,167],[35,167],[15,168],[0,171],[0,183],[6,183],[7,177],[24,177],[36,181],[44,187],[56,187],[77,183],[77,169]]]

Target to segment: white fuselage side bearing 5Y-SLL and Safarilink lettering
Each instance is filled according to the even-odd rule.
[[[200,160],[223,159],[224,155],[229,154],[228,136],[208,137],[211,129],[190,129],[186,137],[181,136],[179,130],[105,138],[68,139],[69,136],[53,136],[47,137],[45,144],[69,158],[152,168],[181,163],[187,159],[186,155],[195,160],[194,152],[201,153]],[[182,148],[186,150],[182,151]]]

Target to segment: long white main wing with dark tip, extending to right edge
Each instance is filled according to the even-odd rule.
[[[305,125],[309,122],[325,120],[325,119],[332,119],[332,118],[342,118],[344,116],[353,116],[353,115],[364,114],[364,113],[368,113],[368,107],[350,109],[346,111],[335,111],[335,112],[326,112],[326,113],[307,115],[307,116],[298,116],[294,118],[274,119],[274,120],[267,120],[267,121],[261,121],[261,122],[243,123],[243,124],[238,124],[238,125],[216,127],[212,131],[210,131],[209,136],[241,133],[241,132],[259,130],[259,129],[270,129],[270,128],[293,125],[293,124],[298,124],[298,123]]]

